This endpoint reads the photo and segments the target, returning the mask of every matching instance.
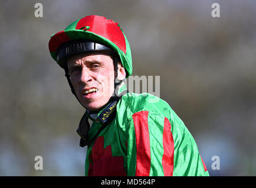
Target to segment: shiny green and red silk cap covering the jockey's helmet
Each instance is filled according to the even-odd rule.
[[[52,58],[61,68],[64,68],[65,65],[63,61],[58,61],[60,47],[65,45],[65,43],[81,39],[93,41],[114,50],[119,55],[120,61],[128,73],[126,77],[132,75],[132,53],[122,28],[120,28],[117,22],[97,15],[85,16],[84,18],[78,19],[68,25],[64,31],[51,36],[49,50]]]

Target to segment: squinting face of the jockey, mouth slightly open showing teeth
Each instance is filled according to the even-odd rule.
[[[77,98],[88,110],[104,106],[114,92],[114,65],[109,55],[83,53],[67,60]]]

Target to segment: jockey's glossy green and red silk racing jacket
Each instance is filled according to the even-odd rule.
[[[100,127],[93,122],[90,139]],[[168,103],[149,93],[127,93],[117,104],[116,117],[87,148],[86,176],[209,173],[191,133]]]

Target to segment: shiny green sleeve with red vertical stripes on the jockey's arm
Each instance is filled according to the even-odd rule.
[[[168,103],[129,95],[118,117],[127,176],[209,176],[195,140]]]

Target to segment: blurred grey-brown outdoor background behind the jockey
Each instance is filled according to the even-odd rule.
[[[220,18],[211,15],[215,2]],[[122,27],[133,75],[160,76],[160,98],[188,127],[211,176],[256,175],[256,1],[1,0],[1,176],[84,176],[76,133],[84,109],[48,41],[93,14]]]

